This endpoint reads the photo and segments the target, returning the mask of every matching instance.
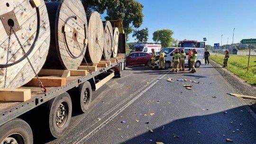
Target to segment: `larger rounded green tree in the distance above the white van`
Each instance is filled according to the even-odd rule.
[[[157,30],[153,33],[153,40],[158,43],[161,42],[163,47],[169,47],[175,42],[175,39],[172,37],[174,32],[170,29]]]

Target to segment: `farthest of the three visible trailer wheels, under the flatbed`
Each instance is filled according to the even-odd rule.
[[[79,87],[69,92],[72,96],[73,108],[79,113],[85,113],[89,110],[92,101],[92,90],[89,81],[81,83]]]

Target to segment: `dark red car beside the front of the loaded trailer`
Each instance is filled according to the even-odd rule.
[[[144,52],[134,52],[126,56],[126,66],[128,65],[148,65],[150,64],[151,54]]]

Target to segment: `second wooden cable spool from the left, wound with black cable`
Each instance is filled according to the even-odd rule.
[[[51,45],[44,68],[77,69],[87,47],[87,19],[81,0],[47,2]]]

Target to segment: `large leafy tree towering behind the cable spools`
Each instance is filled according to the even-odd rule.
[[[45,0],[59,1],[59,0]],[[143,22],[143,5],[137,0],[81,0],[87,15],[91,11],[100,14],[107,13],[106,20],[123,20],[123,28],[128,39],[134,28],[141,26]]]

